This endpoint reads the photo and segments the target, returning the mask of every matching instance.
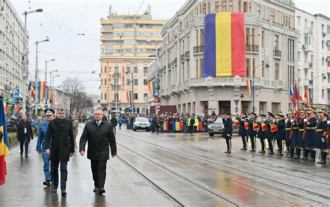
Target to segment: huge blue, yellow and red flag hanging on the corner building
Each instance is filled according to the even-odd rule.
[[[204,18],[203,77],[246,77],[244,13]]]

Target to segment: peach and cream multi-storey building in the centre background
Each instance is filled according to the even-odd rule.
[[[148,112],[148,66],[162,45],[160,31],[164,23],[164,20],[152,20],[150,10],[144,15],[111,13],[107,20],[101,20],[102,107],[128,111],[126,94],[132,91],[133,82],[134,112]]]

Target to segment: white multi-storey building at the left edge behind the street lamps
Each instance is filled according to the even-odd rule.
[[[27,95],[27,72],[24,56],[28,34],[13,4],[0,0],[0,95],[13,98],[13,90],[19,89],[19,98]]]

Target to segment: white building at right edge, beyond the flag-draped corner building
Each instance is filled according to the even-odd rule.
[[[297,8],[298,80],[301,93],[311,89],[311,104],[327,108],[330,98],[330,18]]]

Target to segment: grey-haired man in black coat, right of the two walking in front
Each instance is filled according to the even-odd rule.
[[[94,192],[103,194],[106,177],[107,160],[109,160],[109,145],[111,157],[117,155],[116,137],[113,134],[112,124],[102,121],[101,109],[95,109],[94,120],[86,123],[80,137],[80,155],[85,155],[85,146],[88,142],[87,158],[91,160],[94,180]]]

